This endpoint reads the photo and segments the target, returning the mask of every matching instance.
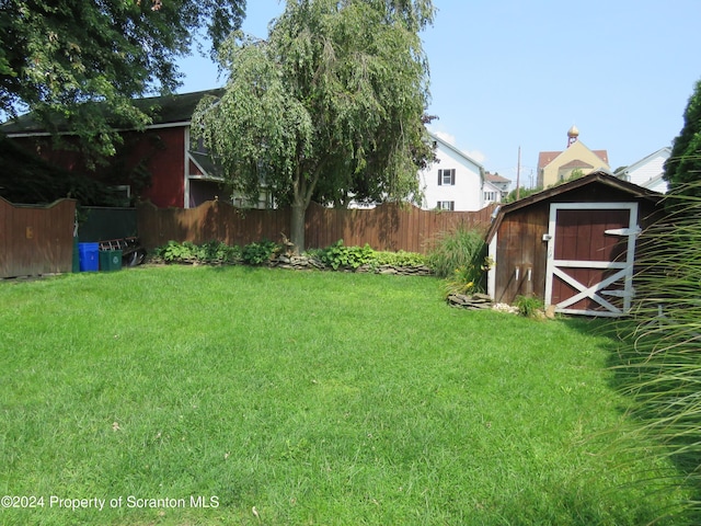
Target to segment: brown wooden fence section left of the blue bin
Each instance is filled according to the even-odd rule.
[[[76,201],[13,205],[0,197],[0,278],[71,272]]]

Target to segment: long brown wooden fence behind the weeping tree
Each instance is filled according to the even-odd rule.
[[[388,203],[371,209],[337,209],[311,204],[304,225],[306,249],[324,248],[343,239],[348,247],[368,243],[376,250],[425,253],[432,240],[460,226],[486,231],[495,206],[479,211],[428,211],[413,205]],[[228,203],[210,201],[197,208],[137,209],[141,243],[147,249],[168,241],[200,244],[217,240],[244,245],[289,237],[290,210],[241,210]]]

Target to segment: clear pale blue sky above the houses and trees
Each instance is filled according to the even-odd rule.
[[[267,35],[284,2],[249,0],[243,30]],[[611,169],[670,146],[701,79],[699,0],[434,0],[423,34],[432,130],[521,184],[538,152],[579,140]],[[223,85],[208,58],[180,62],[180,92]]]

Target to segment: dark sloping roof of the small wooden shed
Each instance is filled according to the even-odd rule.
[[[542,201],[547,201],[556,196],[564,195],[576,188],[581,188],[582,186],[586,186],[593,183],[600,183],[611,188],[625,192],[630,194],[631,197],[644,198],[655,203],[660,201],[664,197],[664,195],[658,192],[654,192],[643,186],[639,186],[637,184],[629,183],[628,181],[618,179],[616,175],[608,173],[606,171],[602,171],[602,170],[595,171],[583,178],[575,179],[574,181],[570,181],[567,183],[558,185],[558,186],[552,186],[550,188],[543,190],[542,192],[531,194],[528,197],[524,197],[522,199],[519,199],[514,203],[509,203],[507,205],[499,207],[496,214],[496,217],[494,221],[492,221],[492,225],[487,231],[487,235],[486,235],[487,243],[492,240],[492,238],[498,230],[499,225],[504,220],[504,216],[506,214],[533,205],[536,203],[540,203]]]

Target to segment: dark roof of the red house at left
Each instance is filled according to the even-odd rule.
[[[134,105],[148,114],[152,124],[149,126],[163,126],[168,124],[187,124],[192,119],[197,103],[205,95],[218,96],[223,89],[205,90],[192,93],[170,94],[135,99]],[[118,123],[113,123],[118,128]],[[147,126],[147,128],[149,127]],[[58,128],[66,129],[65,123],[58,123]],[[46,133],[43,123],[36,121],[31,113],[21,115],[0,125],[0,130],[8,136],[33,135]]]

